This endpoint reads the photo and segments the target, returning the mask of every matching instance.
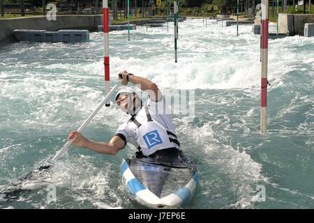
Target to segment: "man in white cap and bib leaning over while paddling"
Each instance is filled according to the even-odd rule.
[[[115,98],[117,105],[131,117],[119,126],[108,143],[90,141],[76,131],[70,132],[67,140],[74,139],[76,136],[73,145],[110,155],[116,155],[129,142],[139,150],[136,153],[139,158],[163,157],[165,160],[164,157],[172,157],[167,162],[179,162],[177,159],[181,154],[180,144],[170,114],[165,112],[165,99],[158,86],[149,79],[130,74],[126,70],[119,74],[119,78],[124,85],[131,82],[140,86],[140,89],[149,95],[147,102],[142,102],[135,89],[121,89]]]

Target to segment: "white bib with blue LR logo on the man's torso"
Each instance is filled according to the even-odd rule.
[[[146,105],[144,105],[144,109],[147,121],[139,123],[135,118],[136,115],[130,118],[130,121],[137,126],[135,133],[137,134],[137,144],[140,152],[145,156],[149,156],[165,148],[179,148],[180,143],[177,136],[157,121],[152,120]]]

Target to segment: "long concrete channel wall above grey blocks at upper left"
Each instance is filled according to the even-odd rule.
[[[48,21],[45,16],[20,17],[0,20],[0,46],[17,41],[15,29],[43,29],[58,31],[60,29],[87,29],[98,31],[103,24],[103,15],[57,15],[56,21]]]

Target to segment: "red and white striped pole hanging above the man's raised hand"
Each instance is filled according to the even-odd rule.
[[[105,95],[107,95],[110,92],[108,0],[103,0],[103,40],[104,40],[103,65],[105,66]],[[106,103],[106,107],[109,107],[109,106],[110,106],[110,101]]]

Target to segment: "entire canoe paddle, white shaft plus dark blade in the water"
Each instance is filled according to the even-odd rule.
[[[116,84],[111,91],[105,96],[105,98],[100,102],[100,104],[98,105],[98,107],[94,110],[94,112],[92,112],[89,117],[84,121],[84,123],[80,126],[80,128],[78,128],[77,132],[82,132],[84,130],[84,128],[86,128],[86,126],[89,124],[89,122],[91,121],[91,119],[94,118],[94,116],[96,116],[96,114],[99,112],[99,110],[103,107],[103,105],[105,105],[105,103],[109,100],[109,98],[111,97],[112,93],[114,93],[114,91],[116,91],[119,86],[121,86],[122,81],[119,81],[118,84]],[[17,197],[17,194],[20,194],[20,192],[23,191],[29,191],[29,190],[22,190],[20,188],[16,188],[17,185],[20,185],[22,183],[23,180],[26,179],[30,179],[33,174],[35,172],[39,172],[39,171],[49,171],[50,167],[52,167],[53,163],[56,162],[61,156],[64,155],[64,153],[66,153],[68,151],[68,149],[70,148],[70,144],[73,143],[74,139],[70,139],[69,141],[66,142],[66,144],[61,148],[61,150],[57,153],[57,155],[55,155],[51,162],[48,162],[47,165],[43,165],[38,167],[37,169],[31,171],[29,174],[23,176],[22,178],[20,178],[20,180],[17,180],[14,183],[10,183],[10,186],[13,186],[14,189],[12,190],[4,190],[2,192],[0,192],[0,194],[5,194],[7,202],[10,201],[10,197]],[[18,198],[18,197],[17,197]]]

